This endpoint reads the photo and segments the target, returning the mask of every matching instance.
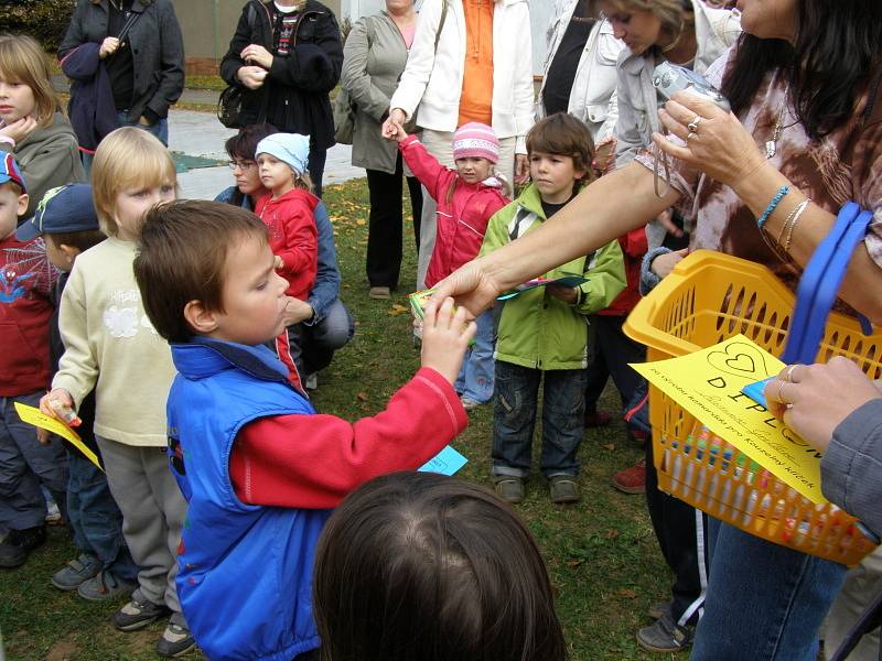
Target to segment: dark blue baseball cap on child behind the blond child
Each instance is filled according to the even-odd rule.
[[[79,252],[100,243],[105,238],[88,184],[65,184],[43,195],[33,217],[23,223],[15,237],[26,241],[43,236],[55,248],[69,246]]]

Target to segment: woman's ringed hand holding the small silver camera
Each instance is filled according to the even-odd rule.
[[[655,133],[653,140],[662,151],[728,186],[735,187],[766,163],[753,137],[738,118],[713,101],[689,91],[678,91],[658,111],[658,118],[686,143],[680,147]],[[695,126],[696,119],[698,126]],[[689,130],[689,123],[693,124],[695,131]]]

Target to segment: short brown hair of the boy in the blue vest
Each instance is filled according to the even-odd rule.
[[[227,251],[248,237],[268,242],[267,227],[251,212],[222,202],[170,202],[147,213],[135,279],[157,333],[187,342],[193,328],[184,307],[191,301],[224,312]]]

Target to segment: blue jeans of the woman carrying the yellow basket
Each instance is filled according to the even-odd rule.
[[[692,661],[815,661],[845,565],[710,519],[710,578]]]

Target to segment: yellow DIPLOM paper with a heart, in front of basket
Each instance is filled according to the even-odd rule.
[[[669,360],[632,364],[647,381],[786,485],[816,503],[821,454],[741,389],[784,364],[743,335]]]

